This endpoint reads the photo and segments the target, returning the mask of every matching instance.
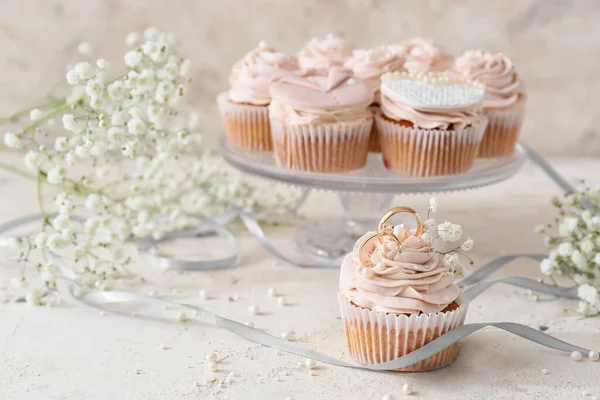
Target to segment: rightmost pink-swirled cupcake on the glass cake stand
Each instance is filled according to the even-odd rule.
[[[470,50],[456,59],[454,71],[486,87],[483,110],[489,122],[478,156],[510,156],[519,138],[527,98],[512,61],[498,52]]]

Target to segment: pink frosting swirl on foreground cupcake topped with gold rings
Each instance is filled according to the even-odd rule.
[[[370,234],[370,233],[369,233]],[[369,235],[367,234],[367,235]],[[357,306],[394,314],[436,313],[442,311],[460,295],[455,277],[441,256],[434,253],[431,243],[405,231],[401,248],[389,250],[378,245],[371,254],[374,263],[385,268],[363,275],[357,246],[342,263],[340,290]]]

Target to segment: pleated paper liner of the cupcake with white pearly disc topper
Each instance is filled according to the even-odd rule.
[[[381,153],[390,171],[407,176],[456,175],[469,171],[487,123],[459,129],[420,129],[375,116]]]

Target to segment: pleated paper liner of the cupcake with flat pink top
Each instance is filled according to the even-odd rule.
[[[277,165],[313,172],[342,172],[367,162],[372,119],[322,125],[288,125],[271,118]]]

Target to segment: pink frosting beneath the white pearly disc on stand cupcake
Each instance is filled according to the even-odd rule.
[[[406,120],[423,129],[463,129],[481,123],[483,115],[480,106],[464,108],[414,108],[393,99],[387,88],[381,88],[381,112],[393,120]]]

